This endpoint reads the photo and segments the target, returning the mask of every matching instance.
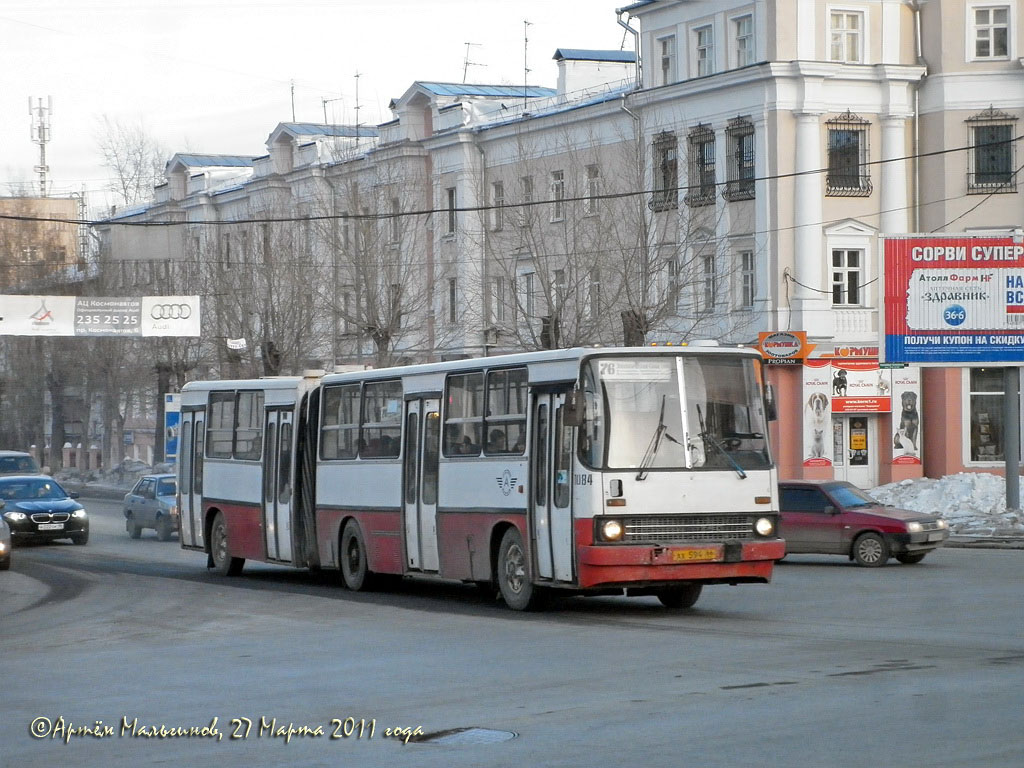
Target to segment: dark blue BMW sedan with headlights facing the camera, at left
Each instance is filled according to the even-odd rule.
[[[31,541],[71,539],[74,544],[89,541],[89,516],[52,477],[14,475],[0,477],[0,515],[10,528],[15,544]]]

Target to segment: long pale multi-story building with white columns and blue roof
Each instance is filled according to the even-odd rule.
[[[124,215],[194,222],[177,256],[210,340],[295,368],[801,332],[809,359],[770,374],[782,474],[993,469],[983,371],[903,376],[921,413],[900,445],[879,236],[1021,227],[1021,11],[641,0],[615,10],[638,58],[559,49],[555,88],[414,82],[374,130],[283,123],[264,158],[175,156]],[[806,408],[847,368],[876,404]]]

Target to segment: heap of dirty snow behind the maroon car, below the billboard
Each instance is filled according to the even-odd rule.
[[[1007,484],[998,475],[961,472],[880,485],[867,492],[882,504],[938,513],[961,536],[1024,537],[1024,514],[1007,510]]]

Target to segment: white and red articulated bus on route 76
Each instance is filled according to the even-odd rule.
[[[246,560],[554,591],[767,583],[784,554],[758,353],[580,348],[197,381],[181,394],[181,546]]]

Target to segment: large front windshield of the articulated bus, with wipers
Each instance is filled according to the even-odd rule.
[[[770,466],[755,362],[726,355],[598,357],[584,365],[582,458],[592,467]]]

